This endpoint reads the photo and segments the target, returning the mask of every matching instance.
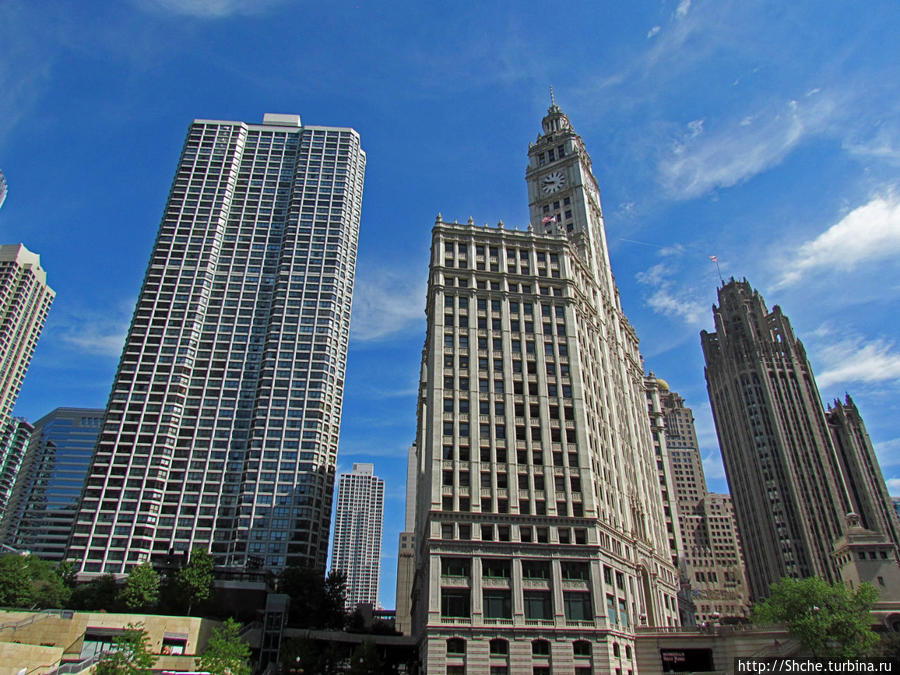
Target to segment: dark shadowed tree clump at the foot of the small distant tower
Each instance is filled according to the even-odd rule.
[[[344,627],[347,575],[343,572],[331,572],[323,579],[316,570],[288,567],[281,573],[278,588],[291,598],[290,625],[333,630]]]

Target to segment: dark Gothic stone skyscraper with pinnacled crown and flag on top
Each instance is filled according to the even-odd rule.
[[[887,498],[876,485],[880,472],[876,478],[871,470],[871,446],[851,441],[861,424],[836,412],[833,424],[846,433],[835,433],[847,441],[847,457],[839,459],[806,351],[780,307],[769,312],[746,280],[732,279],[718,294],[716,331],[703,331],[701,341],[751,598],[765,598],[785,576],[835,581],[841,571],[832,554],[848,514],[870,517],[864,527],[896,536],[884,529],[889,505],[865,503]]]

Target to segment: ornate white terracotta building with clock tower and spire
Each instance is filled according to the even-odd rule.
[[[534,227],[432,232],[413,591],[430,673],[626,672],[636,625],[678,621],[637,338],[555,104],[528,157]]]

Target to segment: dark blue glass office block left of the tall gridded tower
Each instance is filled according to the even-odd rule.
[[[34,423],[12,487],[0,540],[42,560],[62,560],[105,411],[57,408]]]

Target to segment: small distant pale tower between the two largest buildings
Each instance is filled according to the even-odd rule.
[[[384,481],[372,464],[354,464],[338,481],[331,570],[347,575],[347,608],[378,604]]]

